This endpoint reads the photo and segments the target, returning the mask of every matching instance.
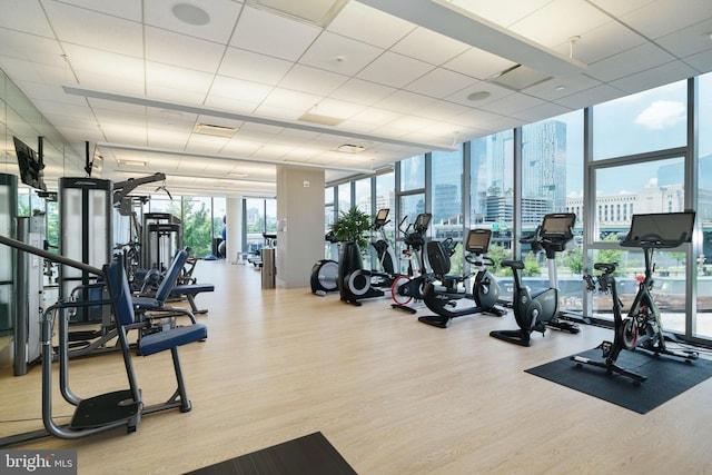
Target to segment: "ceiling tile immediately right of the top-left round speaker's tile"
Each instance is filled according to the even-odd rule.
[[[319,32],[319,28],[245,7],[230,46],[296,61]]]

